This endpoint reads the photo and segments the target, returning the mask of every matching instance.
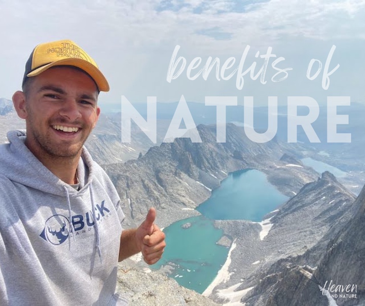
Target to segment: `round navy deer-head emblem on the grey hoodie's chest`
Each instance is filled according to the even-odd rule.
[[[70,233],[70,222],[65,216],[53,215],[46,221],[41,237],[52,244],[62,244]]]

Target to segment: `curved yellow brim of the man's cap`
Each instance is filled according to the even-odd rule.
[[[27,74],[27,77],[35,77],[36,75],[41,74],[43,71],[55,66],[78,67],[90,75],[90,77],[95,81],[99,91],[109,91],[109,84],[106,81],[104,75],[100,72],[100,70],[96,68],[93,64],[79,58],[65,58],[53,63],[49,63],[29,72]]]

